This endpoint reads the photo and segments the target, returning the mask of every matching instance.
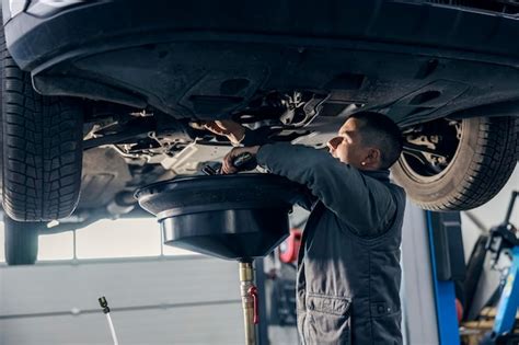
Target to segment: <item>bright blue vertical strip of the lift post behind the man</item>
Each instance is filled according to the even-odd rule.
[[[460,344],[460,331],[455,312],[454,281],[438,279],[431,212],[426,211],[426,215],[429,231],[430,262],[432,264],[432,285],[435,288],[438,338],[440,345]]]

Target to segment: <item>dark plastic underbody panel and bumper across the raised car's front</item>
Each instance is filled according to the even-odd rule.
[[[481,116],[481,107],[516,114],[518,25],[507,14],[403,1],[92,1],[49,18],[22,13],[5,32],[46,95],[240,118],[273,93],[300,92],[314,101],[310,113],[355,104],[404,126]]]

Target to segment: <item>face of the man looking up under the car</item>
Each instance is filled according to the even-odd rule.
[[[359,128],[361,123],[357,118],[347,119],[338,130],[338,135],[327,142],[330,154],[343,163],[357,169],[365,169],[368,164],[370,148],[362,146]]]

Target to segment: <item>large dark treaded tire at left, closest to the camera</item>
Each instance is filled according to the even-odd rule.
[[[69,216],[79,199],[83,107],[77,99],[36,93],[1,43],[2,205],[18,221]]]

